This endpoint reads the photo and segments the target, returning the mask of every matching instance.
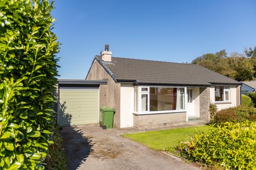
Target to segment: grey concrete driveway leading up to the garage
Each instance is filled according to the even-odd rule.
[[[136,129],[102,130],[98,124],[65,127],[60,131],[69,169],[198,169],[160,151],[120,136]]]

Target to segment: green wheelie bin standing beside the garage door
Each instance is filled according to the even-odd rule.
[[[115,109],[110,107],[100,107],[101,111],[101,125],[102,129],[111,129],[113,128],[113,120]]]

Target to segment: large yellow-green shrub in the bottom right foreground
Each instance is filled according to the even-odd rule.
[[[199,133],[178,150],[183,157],[226,169],[256,169],[256,122],[222,123]]]

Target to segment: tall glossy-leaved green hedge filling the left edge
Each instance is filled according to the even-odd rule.
[[[0,169],[44,169],[59,51],[53,2],[0,1]]]

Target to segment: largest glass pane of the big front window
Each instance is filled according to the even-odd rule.
[[[150,87],[150,111],[172,111],[185,108],[184,88]]]

